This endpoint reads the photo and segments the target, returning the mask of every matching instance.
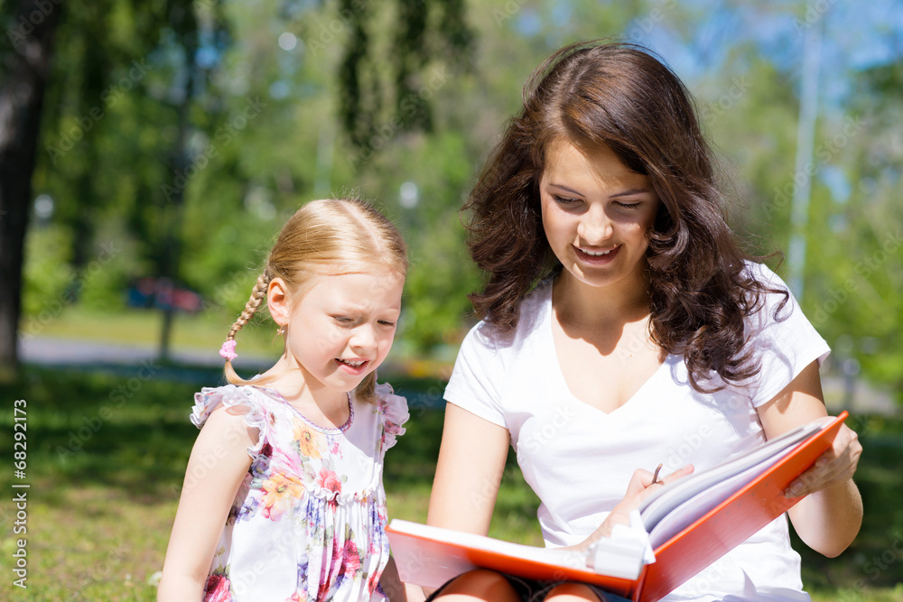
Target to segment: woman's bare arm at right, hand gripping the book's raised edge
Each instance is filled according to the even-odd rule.
[[[768,439],[827,416],[818,365],[813,362],[768,403],[759,406],[759,420]],[[787,514],[796,533],[815,551],[834,557],[852,543],[862,524],[862,498],[852,482],[862,446],[846,425],[833,446],[787,487],[805,495]]]

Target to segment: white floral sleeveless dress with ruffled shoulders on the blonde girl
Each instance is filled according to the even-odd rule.
[[[247,411],[259,431],[213,557],[204,600],[320,602],[388,599],[383,458],[408,419],[404,397],[377,385],[378,403],[349,395],[339,429],[307,421],[274,389],[228,384],[195,394],[199,428],[219,404]]]

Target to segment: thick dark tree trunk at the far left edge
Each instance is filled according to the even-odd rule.
[[[51,44],[61,4],[23,0],[0,53],[0,380],[17,374],[25,230]],[[5,45],[5,44],[4,44]]]

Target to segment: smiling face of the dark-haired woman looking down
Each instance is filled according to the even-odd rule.
[[[643,282],[658,197],[609,148],[550,146],[539,182],[543,227],[566,273],[593,287]],[[628,280],[625,280],[628,279]]]

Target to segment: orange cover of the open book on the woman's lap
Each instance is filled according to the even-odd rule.
[[[529,579],[573,579],[638,602],[656,602],[802,499],[788,499],[784,489],[831,446],[847,415],[842,412],[805,440],[787,447],[781,452],[784,455],[764,471],[685,528],[668,536],[666,541],[655,545],[656,561],[650,564],[643,564],[643,551],[636,542],[606,542],[604,566],[590,570],[586,555],[575,551],[500,542],[472,533],[398,520],[389,524],[386,533],[405,582],[435,588],[462,572],[481,567]],[[667,489],[663,489],[663,497]],[[692,505],[694,499],[697,498],[690,496],[683,500],[684,506]],[[655,500],[650,498],[649,502]],[[640,514],[644,515],[653,506],[647,503]],[[677,514],[681,510],[677,508]],[[675,512],[664,513],[663,520],[672,519],[670,514]],[[650,528],[650,533],[655,536],[656,530]]]

